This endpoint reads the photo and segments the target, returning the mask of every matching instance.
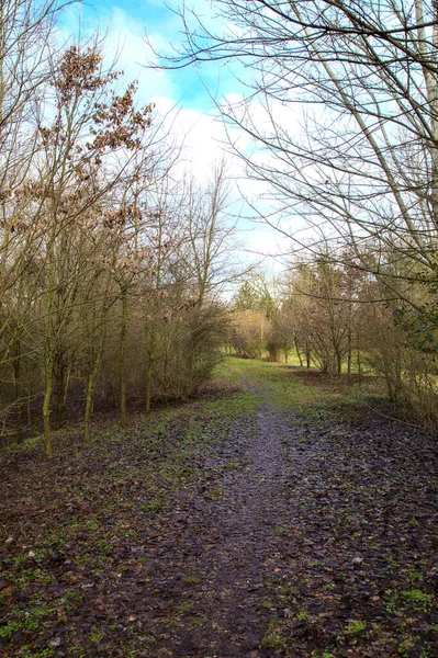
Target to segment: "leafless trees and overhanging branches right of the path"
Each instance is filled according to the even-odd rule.
[[[247,175],[268,185],[270,211],[260,218],[295,253],[290,300],[272,331],[290,326],[284,344],[301,340],[295,347],[307,362],[312,352],[314,364],[337,374],[363,351],[394,400],[435,417],[436,3],[215,7],[222,33],[180,11],[186,42],[167,66],[239,61],[246,93],[218,107],[251,137],[250,152],[231,147]]]

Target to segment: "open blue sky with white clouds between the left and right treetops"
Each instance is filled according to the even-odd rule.
[[[154,102],[157,111],[167,115],[172,138],[183,144],[184,167],[202,180],[226,152],[227,134],[217,116],[214,99],[238,100],[243,92],[238,76],[243,71],[238,63],[233,64],[233,69],[229,64],[218,63],[200,69],[154,70],[148,67],[158,63],[154,49],[171,53],[183,39],[181,19],[176,13],[181,1],[167,0],[166,4],[162,0],[93,0],[90,4],[70,8],[64,19],[64,30],[67,35],[80,31],[88,36],[97,30],[106,34],[108,60],[116,57],[117,68],[124,71],[126,81],[138,80],[139,100]],[[187,7],[193,8],[204,24],[215,31],[221,27],[210,0],[187,0]],[[249,146],[243,134],[235,133],[233,138],[238,138],[243,148]],[[229,175],[235,179],[236,198],[237,188],[252,200],[259,196],[262,190],[245,181],[242,164],[231,156],[225,155],[225,158]],[[235,207],[242,208],[242,202],[236,202]],[[244,215],[250,214],[246,206]],[[242,220],[239,227],[249,252],[246,260],[251,258],[250,252],[284,251],[284,240],[263,225]],[[272,262],[265,266],[278,269]]]

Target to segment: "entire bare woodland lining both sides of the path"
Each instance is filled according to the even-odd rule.
[[[292,254],[274,295],[255,276],[229,314],[224,166],[203,188],[173,173],[159,109],[138,106],[135,81],[105,67],[99,35],[61,45],[68,4],[0,9],[5,442],[41,419],[50,457],[68,404],[85,442],[99,405],[119,407],[125,427],[128,400],[148,413],[151,400],[189,397],[231,343],[273,360],[295,350],[334,376],[367,364],[434,422],[436,5],[223,0],[223,34],[181,10],[183,50],[167,66],[240,63],[246,100],[218,106],[254,140],[257,157],[237,155],[269,184],[262,219]]]

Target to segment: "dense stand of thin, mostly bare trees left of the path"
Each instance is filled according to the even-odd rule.
[[[85,413],[183,399],[217,361],[232,229],[225,169],[200,189],[135,81],[105,69],[99,35],[58,46],[63,4],[2,3],[1,423],[45,449],[67,400]]]

